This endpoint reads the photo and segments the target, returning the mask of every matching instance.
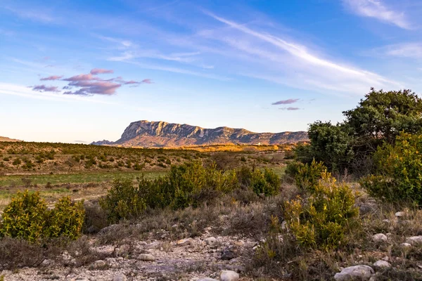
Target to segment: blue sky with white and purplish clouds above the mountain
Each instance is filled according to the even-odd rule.
[[[341,122],[371,87],[421,93],[421,14],[420,0],[0,0],[0,136]]]

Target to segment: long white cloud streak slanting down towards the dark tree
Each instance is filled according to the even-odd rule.
[[[238,74],[299,89],[331,93],[362,94],[372,86],[376,88],[401,87],[400,83],[374,72],[316,55],[306,46],[293,40],[268,32],[260,32],[212,13],[207,14],[231,29],[226,32],[222,30],[215,33],[206,32],[203,37],[224,42],[233,49],[231,53],[243,54],[252,65]],[[248,63],[248,60],[243,60],[242,63]],[[245,69],[244,66],[243,69]]]

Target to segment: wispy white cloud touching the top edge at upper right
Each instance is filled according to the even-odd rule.
[[[386,6],[381,0],[343,0],[343,4],[357,15],[376,18],[405,30],[411,30],[411,24],[402,11],[395,11]]]

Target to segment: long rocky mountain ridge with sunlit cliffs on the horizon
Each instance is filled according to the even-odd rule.
[[[245,129],[219,127],[204,129],[188,124],[167,122],[132,122],[122,137],[113,142],[100,141],[93,145],[140,146],[145,148],[179,147],[186,145],[215,145],[226,143],[277,145],[307,141],[305,131],[283,133],[254,133]]]

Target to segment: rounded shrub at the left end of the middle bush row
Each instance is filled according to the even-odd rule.
[[[142,214],[146,203],[140,194],[139,186],[135,186],[131,180],[117,179],[99,203],[108,212],[108,220],[116,222]]]

